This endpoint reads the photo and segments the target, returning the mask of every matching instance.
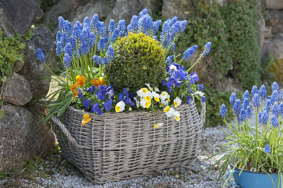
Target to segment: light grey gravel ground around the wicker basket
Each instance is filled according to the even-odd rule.
[[[58,172],[55,168],[52,168],[54,173],[49,177],[34,177],[33,180],[25,180],[21,181],[21,187],[62,187],[62,188],[175,188],[175,187],[194,187],[194,188],[203,188],[203,187],[222,187],[225,182],[225,177],[222,177],[220,181],[216,182],[219,172],[217,169],[213,169],[207,172],[207,169],[211,167],[211,165],[220,159],[223,155],[218,155],[209,161],[205,161],[205,159],[212,154],[215,154],[220,148],[219,146],[225,141],[222,138],[225,134],[220,130],[220,128],[228,131],[228,128],[225,126],[218,126],[212,128],[203,129],[203,133],[201,135],[200,141],[200,149],[199,154],[196,159],[195,166],[190,168],[186,168],[186,172],[188,170],[195,170],[198,167],[203,168],[199,173],[193,173],[192,175],[184,175],[180,176],[179,179],[176,179],[172,175],[166,175],[163,173],[151,174],[148,176],[141,176],[138,178],[132,178],[130,180],[123,180],[117,182],[105,183],[103,185],[94,185],[87,181],[83,176],[79,177],[78,173],[75,173],[74,170],[66,170],[64,172]],[[60,156],[59,156],[60,157]],[[63,161],[65,162],[65,161]],[[48,164],[48,161],[45,162]],[[57,166],[57,165],[56,165]],[[204,169],[206,168],[206,169]],[[44,173],[44,169],[42,167],[38,168],[39,172]],[[49,169],[50,170],[50,169]],[[38,173],[37,173],[38,174]],[[40,173],[39,173],[40,174]],[[231,185],[226,185],[226,187],[233,187]]]

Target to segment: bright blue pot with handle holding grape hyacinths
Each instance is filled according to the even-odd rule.
[[[271,178],[265,174],[265,173],[259,173],[259,172],[252,172],[248,170],[243,170],[241,173],[241,176],[239,176],[239,173],[241,172],[241,169],[234,168],[233,165],[230,164],[231,170],[228,172],[226,178],[232,173],[234,177],[235,183],[232,183],[230,180],[228,182],[231,185],[234,185],[235,187],[240,188],[272,188],[272,181],[274,182],[274,188],[277,187],[278,183],[278,174],[272,173],[269,174]],[[279,187],[281,187],[281,181],[279,182]]]

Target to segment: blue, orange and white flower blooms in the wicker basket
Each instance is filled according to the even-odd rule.
[[[112,43],[118,37],[127,36],[128,32],[142,32],[158,40],[156,32],[161,24],[161,20],[152,20],[151,16],[147,14],[147,9],[142,10],[138,16],[134,15],[127,27],[125,20],[119,20],[117,27],[115,27],[114,20],[110,20],[108,29],[106,29],[104,22],[98,20],[97,14],[93,15],[91,21],[88,17],[85,17],[83,23],[77,21],[73,26],[61,16],[58,20],[59,31],[56,35],[56,54],[61,58],[65,69],[72,69],[72,64],[77,63],[78,58],[81,57],[92,57],[93,62],[105,66],[114,58]],[[183,33],[185,27],[186,20],[178,21],[177,17],[165,21],[162,25],[160,45],[164,49],[174,51],[174,42],[179,34]],[[187,60],[193,55],[197,47],[197,45],[189,47],[179,56],[181,56],[182,60]],[[204,56],[209,53],[210,47],[211,42],[207,42],[203,51]],[[96,55],[96,50],[100,52],[100,55]],[[102,74],[91,80],[87,79],[86,75],[81,74],[77,75],[75,81],[70,85],[75,104],[81,105],[80,107],[87,112],[97,113],[98,115],[114,109],[116,112],[131,111],[133,106],[151,109],[155,104],[163,108],[168,117],[174,116],[179,121],[180,113],[175,111],[174,108],[181,104],[183,95],[180,98],[175,97],[173,103],[170,104],[170,93],[172,90],[175,91],[176,88],[184,86],[188,93],[186,101],[190,104],[194,91],[203,90],[203,85],[196,85],[195,82],[199,81],[197,73],[188,74],[185,72],[185,67],[179,65],[181,62],[179,64],[173,62],[175,58],[174,55],[171,55],[166,60],[169,64],[166,66],[168,77],[162,81],[162,86],[167,88],[167,91],[159,92],[158,88],[153,91],[148,85],[148,89],[141,88],[141,90],[137,91],[136,96],[134,96],[135,92],[128,91],[128,88],[124,88],[123,93],[115,94],[113,86],[106,85],[104,78],[100,77]],[[38,60],[46,62],[40,49],[38,49]],[[89,83],[91,86],[86,87],[85,83]],[[203,96],[201,101],[205,102],[205,100],[206,98]],[[90,120],[89,114],[84,114],[82,125],[85,125]],[[158,122],[154,127],[159,128],[162,124]]]

